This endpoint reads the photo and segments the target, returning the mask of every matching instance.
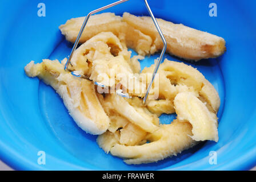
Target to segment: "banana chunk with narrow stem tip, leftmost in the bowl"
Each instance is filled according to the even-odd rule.
[[[25,72],[27,76],[39,77],[56,90],[81,129],[94,135],[107,130],[110,120],[95,94],[93,82],[74,78],[64,71],[58,60],[43,60],[40,64],[31,61],[26,65]]]

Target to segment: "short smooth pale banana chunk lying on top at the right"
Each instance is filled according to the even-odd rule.
[[[193,93],[178,93],[174,107],[179,121],[189,121],[193,126],[194,140],[214,140],[218,142],[217,119]],[[214,114],[215,115],[215,114]]]

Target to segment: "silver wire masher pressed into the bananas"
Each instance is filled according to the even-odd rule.
[[[65,67],[64,67],[65,71],[67,71],[67,68],[69,67],[70,61],[71,61],[72,56],[73,56],[73,54],[74,54],[74,51],[75,51],[75,49],[77,48],[77,45],[78,45],[78,43],[79,43],[79,39],[81,38],[82,32],[83,32],[83,30],[85,29],[85,26],[86,26],[86,24],[87,24],[87,22],[88,22],[90,16],[91,16],[92,14],[98,13],[99,11],[106,10],[106,9],[108,9],[109,7],[113,7],[113,6],[115,6],[115,5],[119,5],[120,3],[123,3],[123,2],[126,2],[126,1],[128,1],[128,0],[117,1],[117,2],[111,3],[110,5],[103,6],[103,7],[99,8],[99,9],[97,9],[97,10],[93,10],[93,11],[91,11],[89,14],[87,14],[87,16],[86,16],[86,18],[85,18],[85,20],[84,20],[84,22],[83,22],[83,24],[82,24],[81,30],[79,31],[79,34],[78,34],[78,36],[77,36],[77,39],[75,40],[74,46],[73,46],[72,51],[71,51],[70,56],[69,56],[69,59],[67,60],[67,62],[66,62],[66,64],[65,64]],[[166,51],[166,40],[165,40],[165,37],[163,36],[163,33],[162,33],[162,31],[161,31],[161,28],[159,27],[159,25],[158,25],[158,23],[157,23],[157,20],[155,19],[155,16],[154,16],[154,14],[152,13],[152,11],[151,11],[151,9],[150,9],[149,3],[147,3],[147,0],[145,0],[145,5],[146,5],[146,7],[147,7],[147,11],[149,11],[149,14],[150,14],[150,16],[151,16],[151,18],[152,18],[152,20],[153,20],[153,22],[154,22],[154,24],[155,24],[155,27],[157,28],[157,31],[158,31],[159,35],[161,36],[161,39],[162,39],[162,41],[163,41],[163,49],[162,49],[161,55],[160,55],[160,57],[159,57],[159,59],[158,59],[158,61],[157,61],[157,65],[155,66],[155,69],[154,69],[154,72],[153,72],[153,75],[152,75],[150,84],[149,84],[149,86],[147,86],[147,91],[146,91],[145,97],[143,98],[143,104],[145,104],[145,102],[146,102],[146,100],[147,100],[147,96],[149,95],[151,86],[152,86],[153,81],[154,81],[154,78],[155,78],[155,74],[156,74],[157,71],[158,71],[159,65],[160,65],[160,63],[162,62],[163,55],[165,54],[165,51]],[[76,77],[81,77],[81,78],[89,79],[88,77],[83,76],[83,75],[80,75],[79,73],[77,73],[77,72],[75,72],[75,71],[71,72],[71,74],[72,74],[73,76],[76,76]],[[94,84],[95,84],[95,85],[98,85],[98,86],[105,87],[105,85],[101,84],[100,82],[94,82]],[[117,93],[119,96],[130,98],[130,96],[129,96],[128,94],[122,93],[122,92],[120,92],[120,90],[117,90],[116,93]]]

